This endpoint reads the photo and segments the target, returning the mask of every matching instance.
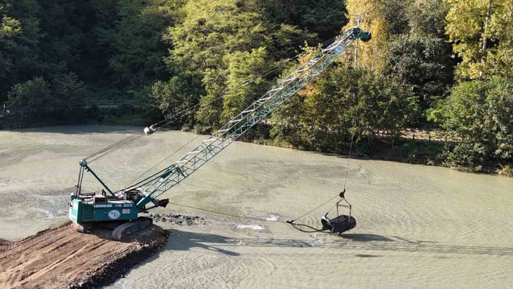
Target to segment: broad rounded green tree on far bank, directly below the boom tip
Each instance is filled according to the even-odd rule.
[[[385,135],[393,142],[415,105],[407,86],[397,79],[338,66],[328,69],[302,97],[277,110],[271,136],[323,151],[342,150],[352,133],[357,141]]]

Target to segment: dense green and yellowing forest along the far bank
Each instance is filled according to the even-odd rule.
[[[0,103],[26,125],[208,133],[334,36],[355,42],[249,140],[513,175],[513,0],[0,0]],[[296,55],[299,57],[295,57]],[[91,100],[138,105],[100,109]],[[436,130],[453,142],[402,139]]]

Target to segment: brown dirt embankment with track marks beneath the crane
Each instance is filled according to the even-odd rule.
[[[98,287],[160,251],[167,232],[152,225],[123,242],[110,230],[77,233],[70,223],[19,241],[0,239],[0,288]]]

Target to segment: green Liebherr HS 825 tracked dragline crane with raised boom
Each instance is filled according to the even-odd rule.
[[[157,200],[157,197],[190,176],[225,147],[239,139],[248,129],[264,120],[274,109],[317,79],[358,38],[368,41],[371,35],[361,31],[358,27],[349,29],[272,87],[260,99],[228,121],[199,146],[188,152],[182,159],[119,192],[112,192],[94,174],[87,161],[81,160],[77,189],[71,194],[69,209],[69,218],[76,223],[76,229],[86,232],[94,225],[104,225],[114,228],[112,236],[114,239],[120,240],[130,233],[150,225],[151,219],[137,218],[137,214],[157,206],[165,207],[169,199]],[[147,130],[148,128],[145,129],[145,132],[148,134]],[[150,127],[149,130],[153,132],[155,129]],[[102,190],[101,194],[82,192],[81,183],[84,171],[91,172],[109,194],[105,190]],[[146,207],[148,204],[152,206]]]

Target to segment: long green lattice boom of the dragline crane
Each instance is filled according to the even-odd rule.
[[[137,206],[148,203],[150,201],[148,199],[154,199],[174,185],[179,184],[230,143],[239,139],[248,129],[265,119],[274,109],[315,80],[361,33],[358,28],[347,31],[334,43],[322,49],[309,61],[294,70],[260,99],[231,119],[198,147],[187,153],[180,161],[170,166],[163,177],[158,178],[145,189],[145,195],[148,198],[141,200],[137,203]]]

